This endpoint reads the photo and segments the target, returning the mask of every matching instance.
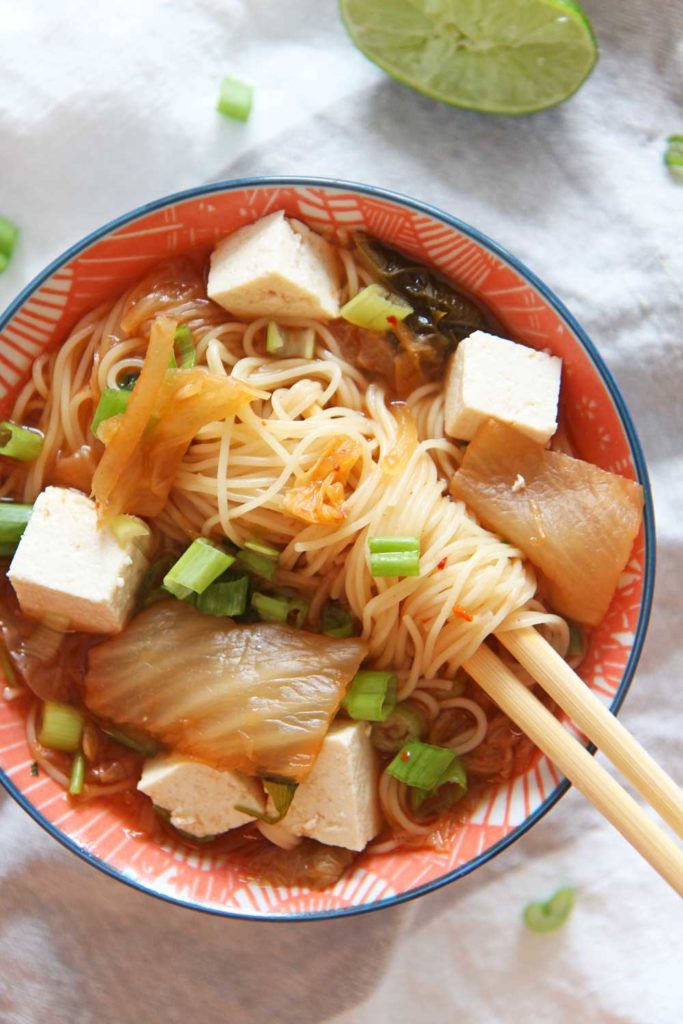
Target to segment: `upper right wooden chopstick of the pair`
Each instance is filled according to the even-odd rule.
[[[531,626],[496,636],[683,839],[683,792]]]

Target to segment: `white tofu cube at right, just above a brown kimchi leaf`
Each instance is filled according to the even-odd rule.
[[[445,432],[472,440],[488,419],[545,444],[557,430],[562,360],[475,331],[464,338],[445,380]]]

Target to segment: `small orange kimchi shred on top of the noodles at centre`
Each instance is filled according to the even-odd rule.
[[[350,437],[335,437],[315,464],[285,495],[284,511],[304,522],[342,522],[345,485],[360,458],[360,445]]]

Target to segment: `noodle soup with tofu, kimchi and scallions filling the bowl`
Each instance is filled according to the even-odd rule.
[[[399,250],[275,212],[39,356],[0,601],[37,770],[273,884],[452,846],[535,758],[463,665],[529,625],[580,664],[640,525],[638,485],[554,420],[552,357],[505,334]]]

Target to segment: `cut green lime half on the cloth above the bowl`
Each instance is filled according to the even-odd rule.
[[[531,114],[598,58],[575,0],[340,0],[351,38],[398,81],[456,106]]]

